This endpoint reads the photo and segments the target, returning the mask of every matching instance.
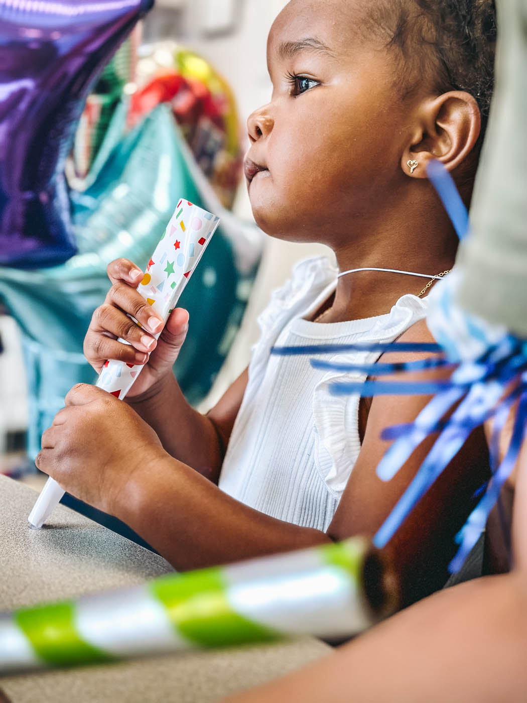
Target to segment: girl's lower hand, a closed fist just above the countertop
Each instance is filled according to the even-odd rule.
[[[42,435],[35,463],[65,491],[116,515],[131,475],[167,453],[152,427],[100,388],[79,383],[65,403]]]

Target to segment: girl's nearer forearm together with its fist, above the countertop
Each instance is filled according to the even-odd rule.
[[[150,425],[100,388],[72,388],[42,435],[42,447],[39,469],[129,524],[176,569],[330,541],[323,532],[275,520],[224,494],[169,456]]]

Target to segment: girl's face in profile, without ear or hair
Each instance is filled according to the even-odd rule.
[[[271,27],[273,94],[249,117],[245,161],[254,217],[268,234],[338,245],[353,221],[389,207],[404,180],[408,105],[389,51],[365,37],[367,6],[292,0]]]

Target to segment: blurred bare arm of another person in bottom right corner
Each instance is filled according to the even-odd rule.
[[[523,703],[527,442],[517,469],[513,572],[435,593],[329,657],[228,703]]]

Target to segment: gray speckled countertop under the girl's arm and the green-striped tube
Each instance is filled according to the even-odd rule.
[[[31,530],[33,489],[0,476],[0,610],[119,588],[171,571],[162,557],[60,505]],[[12,703],[207,703],[330,652],[313,638],[0,678]]]

